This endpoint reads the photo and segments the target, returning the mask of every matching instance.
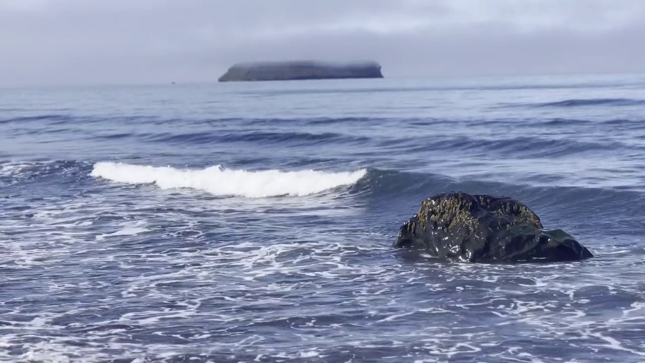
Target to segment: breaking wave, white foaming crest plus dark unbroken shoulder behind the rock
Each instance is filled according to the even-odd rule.
[[[638,218],[630,216],[645,214],[645,193],[642,191],[464,180],[441,174],[380,169],[344,172],[246,171],[226,169],[220,165],[203,169],[178,169],[99,162],[95,163],[91,175],[121,184],[154,184],[160,189],[192,189],[224,197],[275,198],[333,193],[339,198],[358,198],[347,203],[376,203],[384,207],[397,205],[399,211],[407,210],[408,213],[413,213],[424,198],[441,192],[497,194],[521,200],[539,214],[546,215],[546,220],[574,223],[580,215],[593,216],[575,223],[592,229],[594,225],[604,225],[607,230],[626,234],[637,229],[640,223]],[[619,215],[622,217],[617,218]]]

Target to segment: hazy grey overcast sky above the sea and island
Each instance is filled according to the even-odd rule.
[[[645,0],[0,0],[0,86],[216,81],[233,63],[386,77],[645,72]]]

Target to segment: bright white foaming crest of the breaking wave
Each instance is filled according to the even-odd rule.
[[[269,196],[306,196],[342,185],[352,185],[366,174],[324,171],[244,171],[223,169],[175,169],[126,163],[101,162],[94,165],[92,176],[113,182],[155,183],[161,189],[190,188],[219,196],[263,198]]]

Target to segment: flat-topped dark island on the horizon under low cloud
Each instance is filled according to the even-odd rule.
[[[219,78],[228,81],[285,81],[295,79],[383,78],[376,62],[325,63],[284,61],[238,63]]]

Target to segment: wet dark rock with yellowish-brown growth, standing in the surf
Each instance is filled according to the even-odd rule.
[[[593,254],[561,229],[511,198],[448,192],[421,203],[393,247],[422,249],[461,262],[573,261]]]

